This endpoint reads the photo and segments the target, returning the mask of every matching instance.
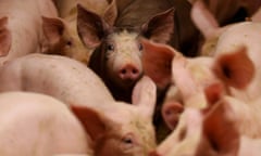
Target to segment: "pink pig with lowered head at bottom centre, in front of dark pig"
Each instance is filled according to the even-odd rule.
[[[148,77],[135,86],[133,104],[115,101],[91,69],[65,56],[30,54],[16,58],[2,66],[0,80],[1,92],[39,92],[73,106],[91,136],[96,156],[140,156],[156,146],[156,84]],[[94,123],[85,125],[88,120]]]

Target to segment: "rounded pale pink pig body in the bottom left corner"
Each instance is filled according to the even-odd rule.
[[[2,156],[92,155],[84,127],[59,100],[39,93],[4,92],[0,107]]]

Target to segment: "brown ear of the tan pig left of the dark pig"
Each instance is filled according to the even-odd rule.
[[[65,25],[62,20],[42,16],[44,35],[50,44],[57,44],[60,42],[64,27]]]

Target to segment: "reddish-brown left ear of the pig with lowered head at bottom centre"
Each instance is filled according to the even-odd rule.
[[[71,106],[71,109],[94,141],[107,131],[107,122],[96,110],[80,106]]]

